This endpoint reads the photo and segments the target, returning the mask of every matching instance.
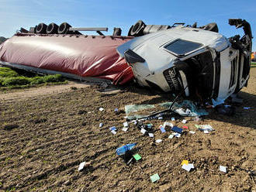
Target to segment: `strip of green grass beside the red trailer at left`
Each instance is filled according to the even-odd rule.
[[[42,84],[65,83],[67,83],[67,80],[61,74],[26,77],[24,74],[19,75],[9,67],[0,67],[0,90],[33,87]]]

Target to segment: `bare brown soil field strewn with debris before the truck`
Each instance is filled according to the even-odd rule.
[[[240,93],[244,104],[236,107],[236,115],[209,110],[202,122],[185,118],[189,130],[173,139],[168,139],[171,131],[157,129],[166,119],[147,121],[154,124],[152,139],[133,124],[123,132],[125,114],[114,112],[125,105],[168,101],[168,95],[137,87],[114,95],[100,94],[95,87],[68,90],[22,99],[0,95],[0,190],[256,190],[256,177],[249,172],[256,170],[256,68],[251,70],[248,87]],[[105,111],[99,111],[100,107]],[[175,118],[181,127],[183,118]],[[100,122],[104,123],[102,128]],[[195,124],[212,125],[215,131],[199,132]],[[116,135],[109,131],[113,125],[118,129]],[[156,139],[163,142],[155,143]],[[116,148],[132,142],[138,143],[135,151],[142,159],[126,166]],[[189,159],[195,169],[183,170],[183,159]],[[79,172],[83,161],[91,166]],[[227,173],[220,172],[220,165],[227,166]],[[160,180],[152,183],[154,173]]]

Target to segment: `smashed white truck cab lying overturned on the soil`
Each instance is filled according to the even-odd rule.
[[[227,39],[179,25],[137,36],[117,51],[141,86],[223,101],[247,84],[251,64],[250,24],[230,19],[230,25],[243,26],[245,35]]]

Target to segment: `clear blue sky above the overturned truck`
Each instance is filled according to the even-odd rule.
[[[47,25],[68,22],[73,27],[120,27],[126,36],[137,20],[148,25],[172,25],[185,22],[198,26],[216,22],[219,32],[230,37],[243,35],[243,29],[229,26],[228,19],[246,19],[256,33],[255,0],[192,1],[192,0],[0,0],[0,36],[11,37],[16,30],[29,29],[40,22]],[[253,39],[256,51],[256,40]]]

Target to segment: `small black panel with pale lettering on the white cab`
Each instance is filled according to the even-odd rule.
[[[181,84],[178,81],[178,71],[175,67],[171,67],[163,72],[166,81],[168,82],[171,91],[180,91]]]

